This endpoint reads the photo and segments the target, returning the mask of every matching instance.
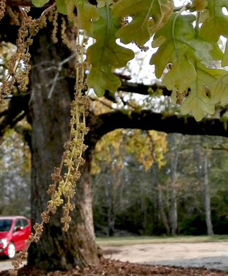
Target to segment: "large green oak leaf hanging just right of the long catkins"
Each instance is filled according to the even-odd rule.
[[[97,10],[100,18],[92,23],[92,37],[96,42],[88,48],[86,54],[92,65],[87,84],[97,96],[103,96],[106,89],[115,92],[121,85],[113,71],[126,66],[133,59],[134,53],[116,44],[115,33],[119,29],[119,18],[113,16],[111,8],[105,6]]]

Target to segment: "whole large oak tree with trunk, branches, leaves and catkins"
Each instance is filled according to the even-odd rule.
[[[228,65],[228,46],[222,52],[219,40],[228,35],[227,1],[194,0],[183,7],[174,7],[172,0],[1,0],[0,4],[1,45],[16,45],[11,59],[1,64],[0,100],[9,103],[0,113],[0,133],[26,115],[32,126],[27,139],[35,234],[28,246],[40,242],[31,243],[28,263],[47,270],[97,263],[90,169],[92,151],[104,134],[138,128],[227,137],[228,75],[222,67]],[[85,47],[88,38],[93,43]],[[147,50],[145,42],[152,38],[152,47],[158,49],[150,64],[164,85],[121,81],[114,70],[125,67],[134,52],[119,45],[117,38],[140,50]],[[215,61],[222,67],[214,68]],[[116,91],[149,95],[159,90],[171,95],[185,116],[148,109],[95,115],[88,112],[90,88],[109,98]],[[212,116],[216,105],[223,106],[221,117]],[[54,182],[49,187],[50,173]],[[64,216],[57,208],[63,204]]]

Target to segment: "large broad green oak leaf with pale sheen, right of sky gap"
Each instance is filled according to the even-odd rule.
[[[164,27],[155,34],[152,47],[159,47],[152,55],[150,64],[155,64],[155,75],[158,79],[167,64],[172,69],[164,76],[164,84],[168,89],[185,94],[190,84],[196,79],[194,61],[211,62],[210,43],[196,39],[192,22],[193,15],[181,16],[172,14]]]

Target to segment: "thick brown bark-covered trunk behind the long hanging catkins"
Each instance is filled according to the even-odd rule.
[[[71,96],[65,79],[56,82],[52,97],[48,98],[50,84],[56,74],[45,71],[52,62],[66,58],[64,49],[54,47],[49,41],[47,29],[35,40],[32,49],[33,63],[30,108],[32,112],[32,224],[40,222],[40,214],[46,209],[50,174],[59,166],[68,140]],[[57,50],[58,52],[57,52]],[[61,52],[62,51],[62,52]],[[46,63],[44,63],[46,62]],[[40,65],[39,65],[40,64]],[[76,209],[71,212],[70,228],[64,232],[60,219],[62,211],[54,214],[38,243],[32,243],[28,264],[43,270],[64,270],[76,265],[84,267],[96,263],[97,246],[92,222],[92,195],[90,178],[90,153],[86,154],[82,177],[77,185]],[[61,208],[60,208],[61,209]]]

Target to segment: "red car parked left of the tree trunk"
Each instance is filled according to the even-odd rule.
[[[25,248],[31,233],[31,222],[27,217],[0,217],[0,255],[14,258],[17,251]]]

